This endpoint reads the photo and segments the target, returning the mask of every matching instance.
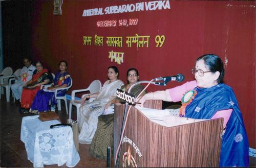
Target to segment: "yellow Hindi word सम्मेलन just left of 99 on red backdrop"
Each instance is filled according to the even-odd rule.
[[[139,36],[135,34],[135,36],[126,36],[126,39],[127,47],[131,47],[132,43],[137,43],[137,47],[144,47],[144,44],[148,47],[150,36]]]

